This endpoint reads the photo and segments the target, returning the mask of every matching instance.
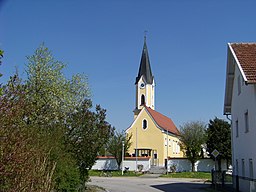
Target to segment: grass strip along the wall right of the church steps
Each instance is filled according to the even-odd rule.
[[[194,178],[194,179],[211,180],[211,173],[206,173],[206,172],[180,172],[180,173],[168,173],[168,175],[162,175],[161,177],[167,177],[167,178]]]

